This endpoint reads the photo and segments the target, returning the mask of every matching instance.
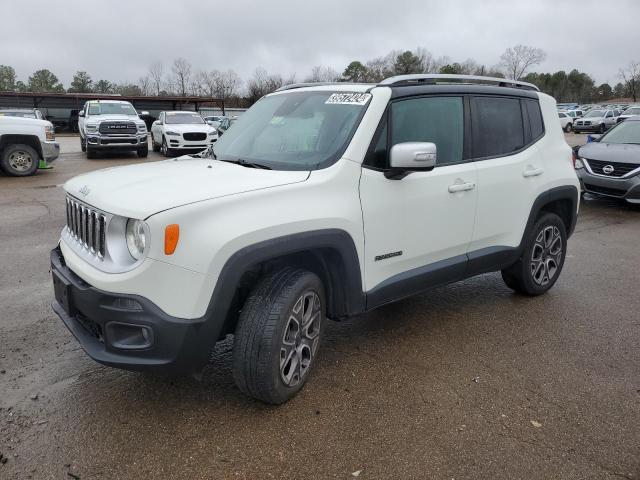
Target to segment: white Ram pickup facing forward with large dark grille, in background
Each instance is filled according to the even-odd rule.
[[[86,102],[78,113],[78,128],[80,148],[87,153],[87,158],[95,158],[98,152],[109,150],[135,150],[138,157],[149,154],[147,126],[129,102]]]

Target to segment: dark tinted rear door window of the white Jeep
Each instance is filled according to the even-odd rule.
[[[525,146],[520,99],[472,97],[471,122],[475,158],[510,155]]]

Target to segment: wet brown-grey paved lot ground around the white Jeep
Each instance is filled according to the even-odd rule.
[[[59,185],[139,160],[61,143],[54,170],[0,177],[0,478],[640,479],[637,208],[583,202],[542,297],[489,274],[330,323],[274,408],[233,386],[230,345],[200,382],[82,352],[49,306]]]

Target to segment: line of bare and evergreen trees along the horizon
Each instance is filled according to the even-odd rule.
[[[586,103],[622,97],[635,102],[640,94],[638,61],[619,69],[619,82],[615,85],[597,85],[593,77],[577,69],[569,73],[564,70],[553,73],[532,71],[545,59],[546,53],[542,49],[527,45],[507,48],[495,65],[479,64],[472,58],[453,61],[447,56],[435,57],[424,48],[394,50],[368,61],[354,60],[342,73],[332,67],[315,66],[302,81],[375,83],[394,75],[442,73],[523,80],[535,84],[558,102]],[[47,69],[35,71],[23,82],[17,79],[13,67],[0,65],[0,91],[201,96],[233,100],[239,105],[250,105],[267,93],[296,81],[295,74],[270,74],[264,68],[257,68],[250,78],[243,81],[233,70],[199,70],[186,59],[177,58],[168,68],[160,61],[152,63],[136,83],[116,83],[105,79],[94,81],[86,71],[78,71],[65,89],[58,77]]]

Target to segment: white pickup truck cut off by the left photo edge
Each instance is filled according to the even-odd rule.
[[[33,175],[40,160],[60,155],[53,125],[47,120],[0,115],[0,169],[7,175]]]

